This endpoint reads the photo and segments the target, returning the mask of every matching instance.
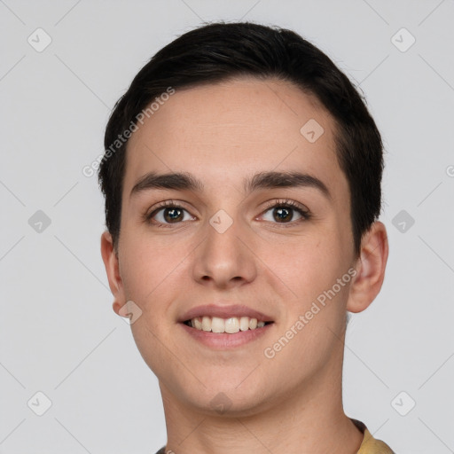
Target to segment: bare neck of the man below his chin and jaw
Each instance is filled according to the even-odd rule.
[[[342,357],[317,376],[248,416],[213,414],[184,406],[160,382],[167,450],[175,454],[355,454],[364,435],[342,408]],[[253,413],[253,414],[251,414]]]

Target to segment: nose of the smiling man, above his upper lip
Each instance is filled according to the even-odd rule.
[[[199,284],[220,289],[253,282],[258,260],[254,255],[254,233],[239,221],[225,231],[210,223],[206,231],[205,240],[195,250],[193,278]]]

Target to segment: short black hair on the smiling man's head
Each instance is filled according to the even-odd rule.
[[[383,172],[380,132],[364,97],[323,51],[294,31],[223,21],[197,27],[168,43],[138,72],[114,106],[106,125],[106,153],[98,180],[106,198],[106,227],[115,250],[128,145],[122,137],[124,131],[131,130],[137,115],[169,88],[191,88],[241,76],[293,82],[315,96],[333,116],[337,159],[348,180],[358,256],[364,232],[380,215]]]

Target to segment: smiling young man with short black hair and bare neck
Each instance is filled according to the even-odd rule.
[[[387,262],[380,133],[348,78],[289,30],[199,27],[105,145],[101,252],[159,379],[159,452],[392,453],[342,407],[347,312]]]

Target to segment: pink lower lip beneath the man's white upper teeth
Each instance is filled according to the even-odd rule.
[[[186,333],[192,336],[193,339],[198,340],[202,344],[210,348],[217,349],[228,349],[236,348],[246,345],[248,342],[262,337],[264,334],[268,333],[270,327],[274,324],[270,323],[269,325],[264,325],[262,328],[256,328],[254,330],[239,331],[238,333],[228,334],[228,333],[211,333],[210,331],[198,330],[192,328],[191,326],[184,325],[183,329]]]

